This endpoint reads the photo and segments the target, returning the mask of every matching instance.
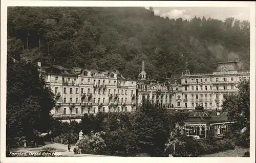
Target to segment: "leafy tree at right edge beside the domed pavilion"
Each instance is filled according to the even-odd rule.
[[[230,127],[229,137],[237,144],[247,144],[250,141],[250,80],[243,79],[238,84],[239,92],[226,96],[223,111],[228,112],[228,119],[235,121]],[[242,132],[242,133],[241,133]],[[241,142],[243,141],[243,142]]]

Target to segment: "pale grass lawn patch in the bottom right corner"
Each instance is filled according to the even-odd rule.
[[[249,151],[250,148],[236,148],[233,150],[227,150],[223,152],[213,153],[213,154],[205,154],[201,155],[201,157],[242,157],[244,152]]]

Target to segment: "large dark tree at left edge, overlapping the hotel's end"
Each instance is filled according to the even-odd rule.
[[[30,62],[7,62],[7,136],[34,136],[50,129],[54,94]]]

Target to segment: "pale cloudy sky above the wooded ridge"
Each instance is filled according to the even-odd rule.
[[[250,9],[246,7],[153,7],[155,14],[162,17],[177,19],[179,17],[190,20],[197,16],[225,20],[234,17],[239,20],[250,21]]]

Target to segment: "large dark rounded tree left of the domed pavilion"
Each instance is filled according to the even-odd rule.
[[[135,114],[133,124],[139,147],[151,155],[162,155],[164,144],[170,135],[171,123],[167,109],[144,100]]]

